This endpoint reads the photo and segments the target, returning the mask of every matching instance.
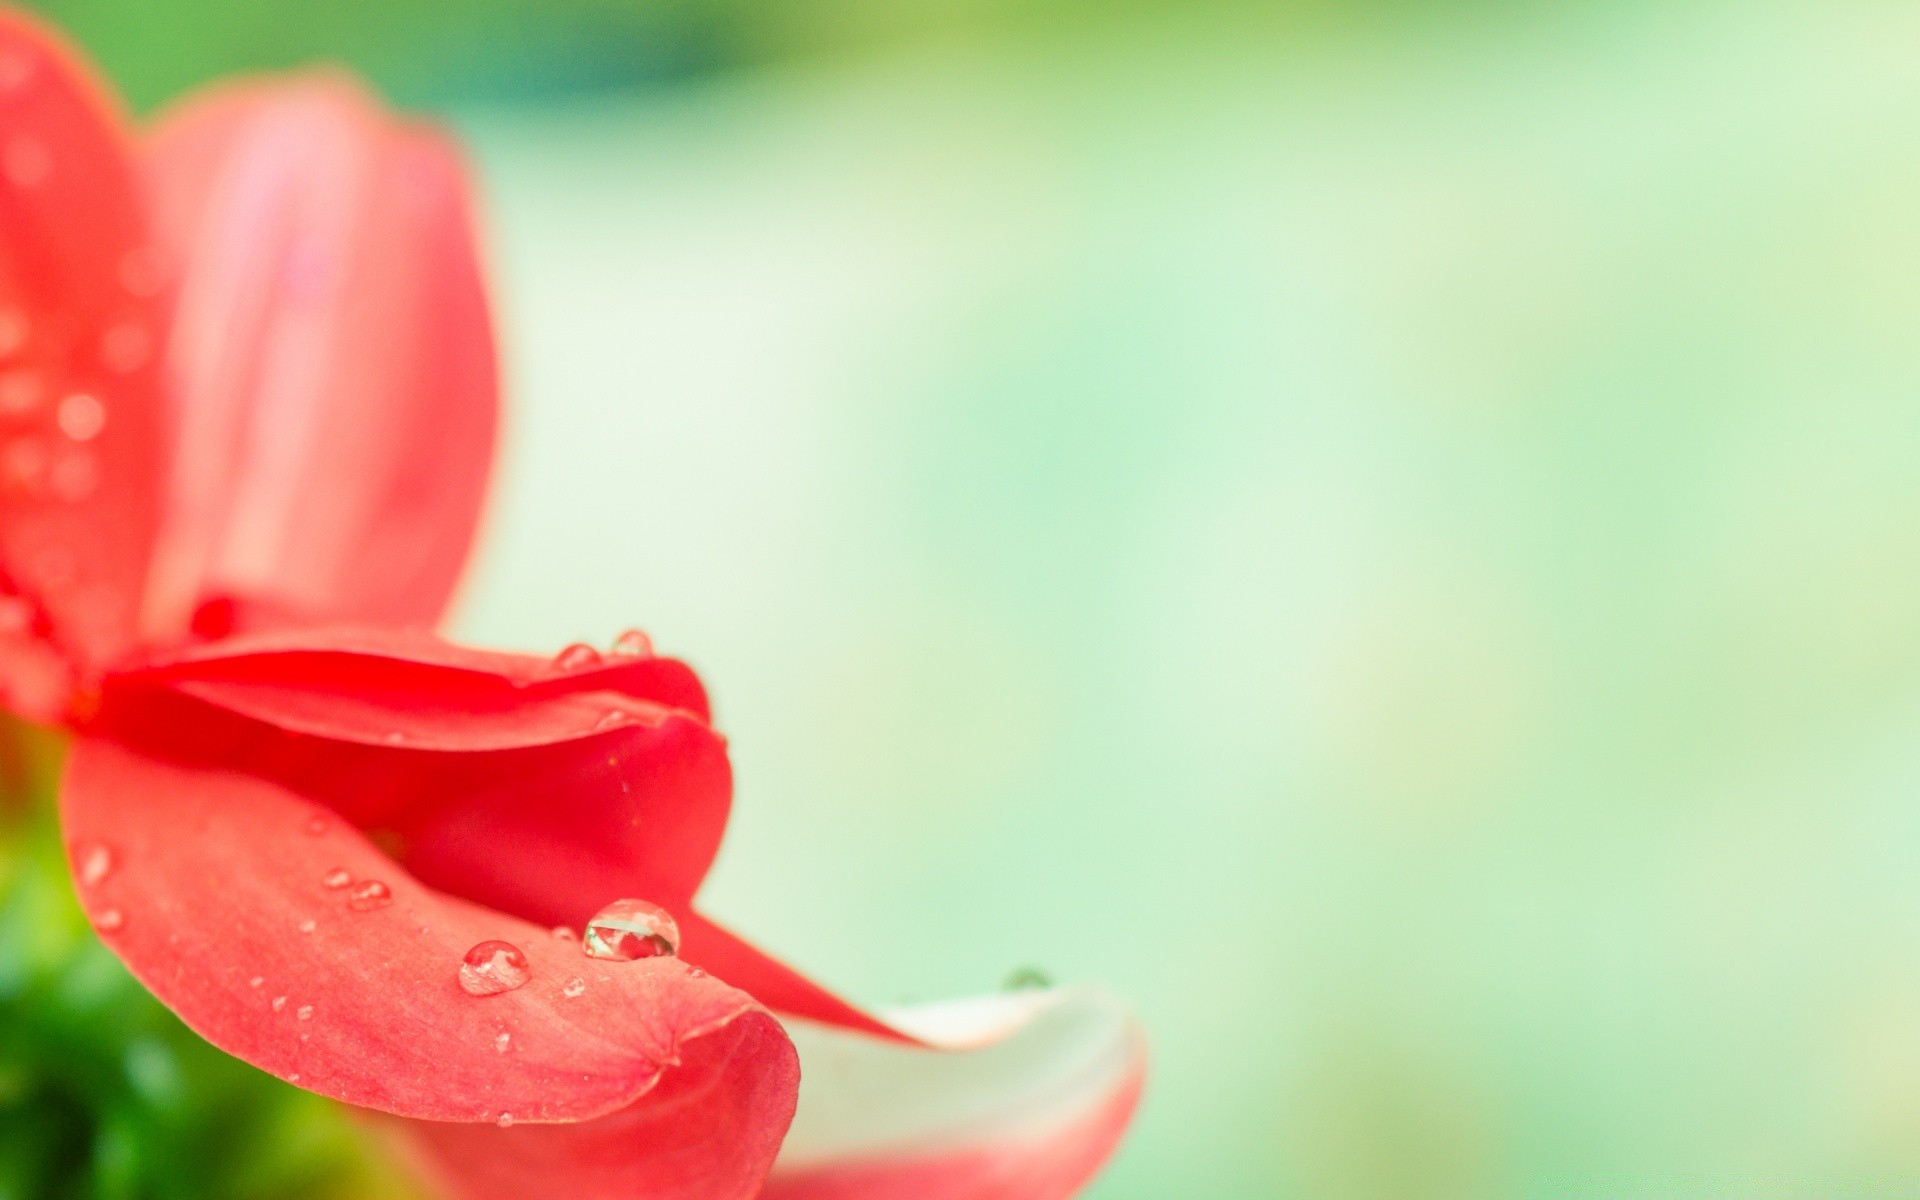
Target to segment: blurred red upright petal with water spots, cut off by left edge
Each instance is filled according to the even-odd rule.
[[[0,701],[60,714],[132,641],[159,478],[159,263],[121,119],[0,12]],[[44,649],[50,647],[50,653]]]

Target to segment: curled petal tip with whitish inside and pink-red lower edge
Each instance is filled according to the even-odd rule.
[[[887,1016],[947,1048],[787,1023],[804,1083],[766,1200],[1060,1200],[1139,1104],[1146,1041],[1096,989]]]

